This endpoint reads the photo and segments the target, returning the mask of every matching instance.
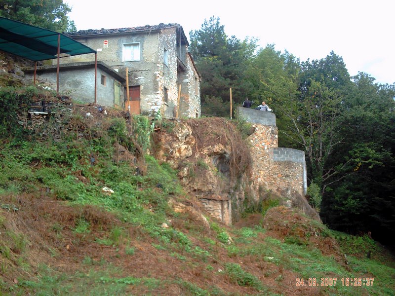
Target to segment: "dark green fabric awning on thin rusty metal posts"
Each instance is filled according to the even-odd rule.
[[[61,33],[0,17],[0,50],[35,62],[57,58],[58,36],[60,53],[74,56],[96,52]]]

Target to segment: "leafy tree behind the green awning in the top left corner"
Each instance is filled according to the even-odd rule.
[[[0,0],[0,16],[56,32],[75,31],[63,0]]]

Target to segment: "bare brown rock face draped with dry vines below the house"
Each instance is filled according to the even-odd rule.
[[[179,170],[184,188],[211,216],[231,224],[232,207],[237,212],[244,200],[244,183],[237,180],[248,171],[247,165],[235,169],[235,162],[242,153],[249,155],[248,148],[235,126],[222,118],[172,123],[169,132],[161,130],[156,135],[157,159]]]

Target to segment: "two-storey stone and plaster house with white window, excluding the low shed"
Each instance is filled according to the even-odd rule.
[[[122,84],[121,104],[122,107],[128,104],[131,113],[155,114],[160,110],[164,117],[176,114],[180,117],[200,116],[201,78],[179,24],[80,30],[67,36],[95,49],[98,61],[127,77],[126,83]],[[61,65],[92,62],[95,54],[60,60]],[[98,84],[103,85],[106,74],[97,79]],[[127,91],[130,103],[127,103]]]

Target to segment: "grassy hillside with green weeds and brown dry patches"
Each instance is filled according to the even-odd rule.
[[[33,126],[42,98],[57,115]],[[394,257],[367,236],[276,200],[210,219],[150,155],[155,129],[171,132],[159,115],[34,87],[0,100],[0,295],[394,295]]]

